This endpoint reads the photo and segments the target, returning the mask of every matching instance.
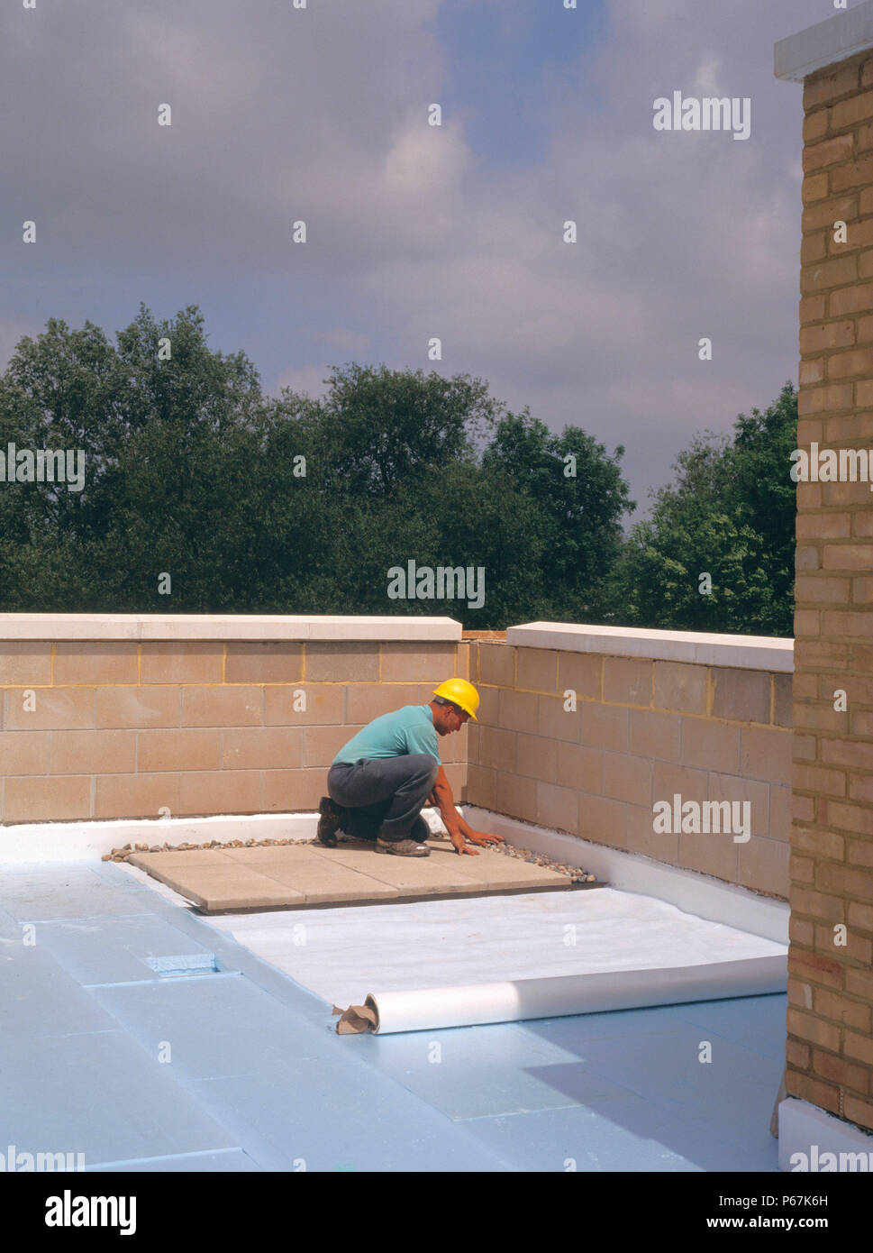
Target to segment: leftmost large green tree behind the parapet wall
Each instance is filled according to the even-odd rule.
[[[262,407],[257,371],[243,353],[209,351],[195,307],[162,325],[140,307],[118,348],[89,322],[51,320],[24,338],[0,380],[3,444],[83,450],[85,489],[5,485],[3,608],[245,606]],[[169,596],[158,594],[163,571]]]

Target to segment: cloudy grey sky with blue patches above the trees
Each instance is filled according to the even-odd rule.
[[[773,44],[834,9],[577,4],[8,0],[0,368],[49,317],[197,303],[273,393],[466,372],[624,444],[639,517],[694,431],[797,382],[802,88]],[[748,96],[750,137],[655,130],[676,90]]]

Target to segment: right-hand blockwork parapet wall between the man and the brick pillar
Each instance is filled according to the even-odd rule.
[[[507,643],[472,644],[482,705],[468,728],[467,798],[787,898],[790,673],[748,668],[762,662],[749,658],[754,642],[745,638],[706,637],[725,642],[714,645],[721,654],[710,647],[725,664],[704,664],[670,659],[680,648],[693,655],[688,649],[704,637],[690,633],[590,629],[567,638],[585,629],[531,629],[559,647],[509,642],[526,630],[511,629]],[[779,664],[789,668],[784,643]],[[575,710],[565,708],[566,692],[576,694]],[[656,833],[653,806],[673,804],[675,794],[748,801],[752,838]]]

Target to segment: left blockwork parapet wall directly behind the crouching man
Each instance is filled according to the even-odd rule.
[[[427,633],[410,624],[423,619],[391,628],[406,639],[341,638],[343,629],[354,634],[352,619],[344,628],[331,620],[339,638],[263,639],[254,618],[204,618],[199,629],[210,639],[177,638],[179,619],[152,624],[163,639],[123,639],[123,615],[91,626],[71,615],[54,624],[55,638],[10,638],[23,634],[24,618],[31,615],[0,615],[5,826],[157,818],[162,809],[173,817],[312,811],[333,757],[364,723],[423,704],[438,682],[468,670],[468,645],[446,619],[430,634],[450,638],[436,639],[415,638]],[[28,623],[25,634],[45,633],[46,623]],[[256,638],[228,638],[239,634]],[[299,693],[306,709],[296,708]],[[466,729],[440,748],[460,798]]]

